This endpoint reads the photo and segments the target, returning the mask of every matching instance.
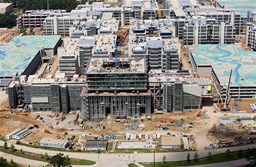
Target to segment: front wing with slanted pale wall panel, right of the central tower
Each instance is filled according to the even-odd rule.
[[[203,99],[211,96],[212,83],[210,79],[191,76],[181,77],[178,73],[173,75],[170,76],[167,73],[165,76],[164,73],[159,73],[156,76],[151,75],[149,77],[148,85],[154,110],[182,112],[184,109],[201,107]]]

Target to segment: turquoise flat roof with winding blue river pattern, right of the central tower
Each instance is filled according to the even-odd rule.
[[[191,53],[196,66],[211,66],[221,84],[227,86],[256,85],[256,52],[245,52],[241,45],[193,45]]]

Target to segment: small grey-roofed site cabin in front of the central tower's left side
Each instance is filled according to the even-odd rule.
[[[85,142],[85,145],[84,145],[84,149],[86,151],[97,151],[97,150],[106,151],[107,150],[107,140],[87,139]]]

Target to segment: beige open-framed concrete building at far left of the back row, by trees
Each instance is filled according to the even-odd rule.
[[[17,25],[18,28],[42,28],[45,18],[50,14],[65,12],[66,10],[27,10],[17,18]]]

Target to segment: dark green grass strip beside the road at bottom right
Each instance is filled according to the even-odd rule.
[[[193,161],[193,159],[190,160],[190,163],[187,163],[187,161],[173,161],[173,162],[157,162],[155,163],[156,167],[167,167],[167,166],[189,166],[189,165],[203,165],[203,164],[211,164],[211,163],[219,163],[219,162],[226,162],[226,161],[234,161],[237,159],[246,158],[248,155],[247,150],[242,150],[242,154],[238,155],[238,151],[233,151],[229,154],[215,154],[212,155],[211,158],[209,157],[202,157],[199,158],[199,162]],[[191,158],[193,158],[193,155],[190,155]],[[145,163],[140,163],[142,165],[145,165]],[[147,163],[147,167],[153,166],[153,163]]]

